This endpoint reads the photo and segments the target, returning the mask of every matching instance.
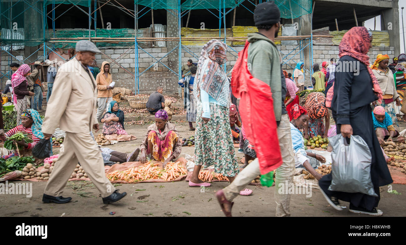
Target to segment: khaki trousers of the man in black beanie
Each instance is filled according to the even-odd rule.
[[[289,116],[282,115],[281,123],[277,129],[279,147],[282,149],[283,164],[276,169],[275,177],[275,202],[276,217],[290,216],[290,194],[284,194],[285,184],[293,184],[293,175],[295,171],[295,160],[292,148],[292,138],[290,136]],[[240,191],[260,174],[259,160],[255,158],[235,177],[233,183],[223,189],[224,195],[228,201],[232,201],[240,194]],[[281,189],[281,190],[280,190]]]

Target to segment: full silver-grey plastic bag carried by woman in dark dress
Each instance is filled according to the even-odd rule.
[[[347,138],[337,134],[329,138],[333,147],[331,158],[332,181],[328,190],[348,193],[364,193],[378,197],[371,181],[371,151],[361,136]]]

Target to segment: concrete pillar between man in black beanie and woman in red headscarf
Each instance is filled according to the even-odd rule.
[[[311,14],[307,15],[302,15],[300,19],[295,19],[295,22],[298,21],[299,24],[299,30],[298,30],[298,35],[299,36],[307,36],[311,35]],[[310,41],[310,40],[309,40]],[[304,43],[302,41],[302,46],[306,46],[308,44]],[[311,71],[311,57],[309,55],[309,51],[311,49],[311,46],[308,45],[306,48],[302,50],[303,54],[303,62],[304,62],[304,68],[307,70]],[[311,85],[311,73],[304,71],[304,85],[309,86]]]

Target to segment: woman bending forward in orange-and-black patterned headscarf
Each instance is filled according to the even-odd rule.
[[[322,92],[311,92],[307,95],[304,108],[309,114],[309,123],[307,130],[304,131],[304,138],[309,139],[314,136],[328,137],[328,128],[330,127],[330,114],[326,108],[326,98]],[[323,123],[323,118],[325,124]],[[327,129],[327,130],[326,130]]]

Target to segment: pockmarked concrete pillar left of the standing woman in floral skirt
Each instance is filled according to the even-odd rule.
[[[167,9],[166,12],[166,31],[168,37],[179,37],[179,19],[178,13],[176,10]],[[175,48],[179,42],[172,41],[168,43],[168,52]],[[168,67],[171,68],[173,71],[178,72],[179,70],[179,48],[173,50],[168,55]]]

